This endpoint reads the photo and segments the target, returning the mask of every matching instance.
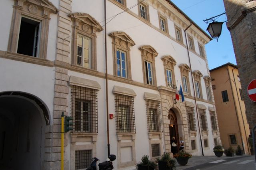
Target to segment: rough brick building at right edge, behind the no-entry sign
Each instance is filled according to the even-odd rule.
[[[224,5],[244,94],[246,116],[252,130],[256,125],[256,102],[249,99],[247,87],[256,79],[256,0],[224,0]]]

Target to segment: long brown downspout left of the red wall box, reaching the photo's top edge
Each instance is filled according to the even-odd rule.
[[[108,123],[108,57],[107,57],[107,23],[106,23],[106,0],[104,0],[104,26],[105,26],[105,67],[106,67],[106,118],[107,118],[107,140],[108,156],[110,155],[109,123]],[[108,158],[108,157],[107,157]]]

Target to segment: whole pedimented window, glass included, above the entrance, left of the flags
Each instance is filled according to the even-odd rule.
[[[170,87],[171,89],[176,89],[174,74],[174,66],[176,65],[176,61],[170,55],[164,55],[161,57],[161,59],[164,63],[166,86]]]

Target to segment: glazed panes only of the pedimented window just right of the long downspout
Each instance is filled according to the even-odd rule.
[[[126,53],[124,51],[116,51],[117,75],[126,78]]]

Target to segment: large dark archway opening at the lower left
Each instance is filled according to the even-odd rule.
[[[0,93],[0,169],[40,170],[49,124],[48,109],[37,97]]]

